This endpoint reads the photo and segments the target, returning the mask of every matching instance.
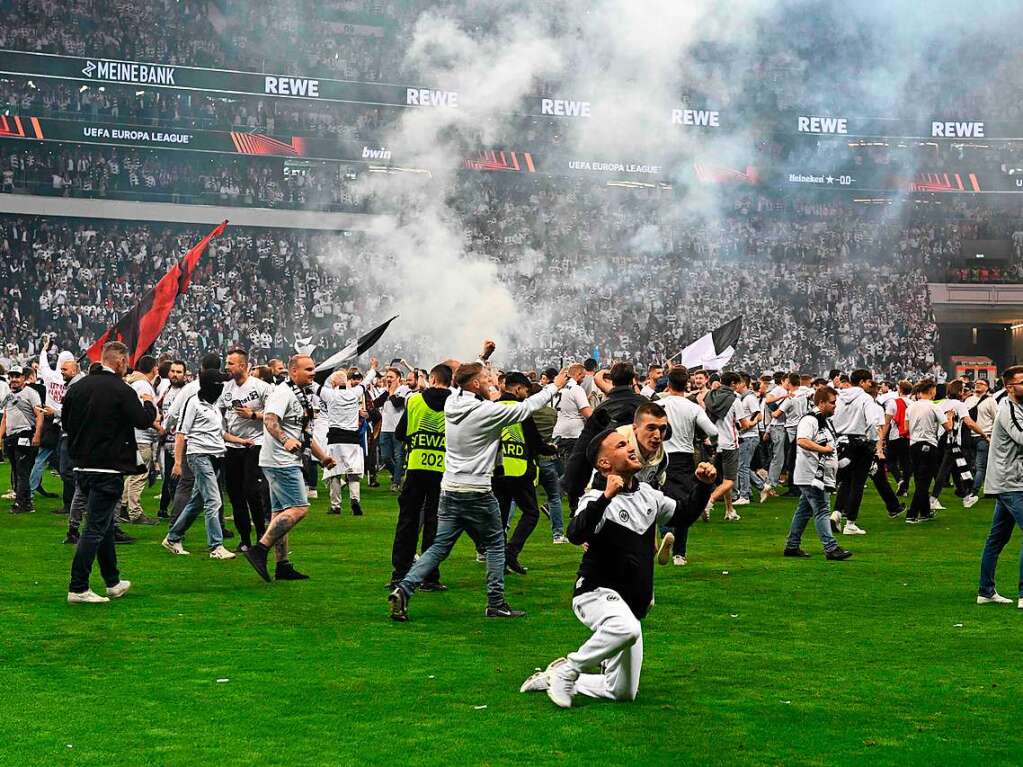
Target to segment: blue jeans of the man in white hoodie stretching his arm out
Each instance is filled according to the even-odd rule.
[[[504,603],[504,531],[501,529],[501,511],[493,493],[449,493],[441,491],[437,510],[437,537],[398,587],[411,595],[428,575],[444,561],[454,548],[463,531],[487,552],[487,604],[492,607]]]

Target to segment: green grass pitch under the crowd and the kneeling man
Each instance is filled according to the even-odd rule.
[[[201,522],[190,557],[160,547],[166,526],[129,528],[134,587],[105,605],[65,603],[65,517],[40,501],[0,518],[0,764],[1019,764],[1023,615],[974,603],[992,501],[947,496],[916,527],[869,496],[846,562],[809,535],[812,559],[781,556],[789,499],[698,523],[690,566],[656,574],[636,702],[568,711],[518,691],[587,635],[570,610],[580,551],[550,545],[545,520],[529,575],[507,578],[526,619],[483,617],[463,539],[442,568],[450,591],[416,594],[395,624],[386,491],[361,518],[314,503],[292,542],[302,583],[210,560]],[[998,571],[1010,596],[1018,552]]]

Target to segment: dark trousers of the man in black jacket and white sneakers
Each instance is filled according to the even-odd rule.
[[[71,563],[69,591],[82,593],[89,588],[92,563],[99,559],[99,572],[107,586],[121,580],[118,552],[114,546],[114,518],[121,505],[125,478],[122,475],[79,471],[79,492],[86,494],[85,529]]]

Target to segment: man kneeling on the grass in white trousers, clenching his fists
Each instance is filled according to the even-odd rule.
[[[638,482],[642,462],[628,437],[612,430],[593,438],[586,457],[606,487],[579,501],[569,525],[572,543],[588,544],[579,567],[572,610],[593,635],[575,652],[553,661],[527,679],[521,691],[546,690],[563,709],[576,694],[633,701],[642,668],[639,625],[654,595],[654,534],[658,524],[674,525],[677,513],[703,509],[717,472],[710,463],[696,467],[699,482],[676,501]],[[583,669],[598,666],[596,674]]]

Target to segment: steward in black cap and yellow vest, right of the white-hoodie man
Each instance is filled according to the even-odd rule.
[[[532,381],[524,373],[509,372],[504,376],[504,391],[498,402],[522,402],[529,396]],[[536,456],[557,452],[554,446],[544,444],[532,416],[521,423],[505,426],[501,433],[501,465],[494,471],[493,483],[504,529],[508,527],[513,501],[522,514],[504,554],[504,566],[513,573],[526,575],[528,572],[519,561],[519,554],[540,518],[540,507],[536,501]]]

